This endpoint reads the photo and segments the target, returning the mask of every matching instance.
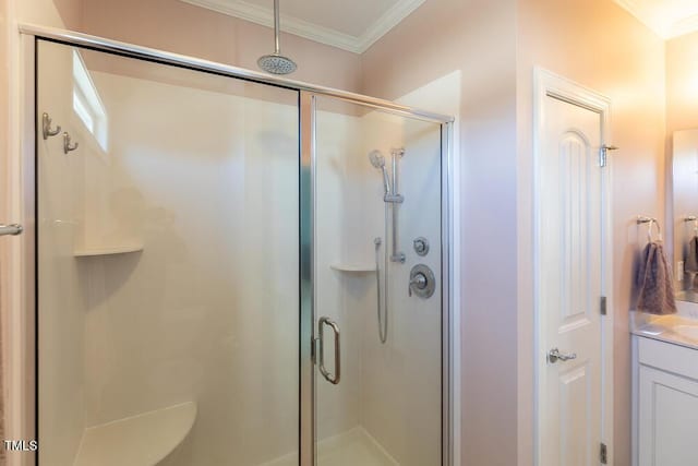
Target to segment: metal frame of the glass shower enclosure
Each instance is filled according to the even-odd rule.
[[[208,60],[186,57],[178,53],[166,52],[147,47],[141,47],[127,43],[105,39],[97,36],[75,33],[52,27],[21,24],[21,65],[23,89],[20,100],[21,124],[21,214],[24,232],[19,241],[16,264],[20,278],[19,297],[22,302],[20,326],[21,336],[13,342],[14,347],[22,348],[23,361],[10,362],[11,369],[22,386],[10,389],[22,399],[20,413],[15,413],[16,428],[14,432],[24,439],[38,439],[38,296],[37,296],[37,222],[36,222],[36,57],[38,40],[47,40],[65,46],[118,55],[121,57],[144,60],[160,64],[176,65],[193,71],[213,73],[221,76],[244,80],[260,84],[273,85],[291,91],[299,95],[299,231],[310,231],[310,243],[314,244],[314,200],[315,200],[315,100],[316,97],[333,97],[347,103],[371,107],[384,112],[389,112],[407,118],[424,120],[441,126],[441,218],[442,218],[442,462],[443,466],[459,464],[454,458],[455,444],[454,426],[456,414],[453,413],[454,396],[454,336],[453,328],[454,297],[452,278],[454,276],[454,261],[452,258],[453,230],[453,127],[454,118],[434,112],[419,110],[389,100],[369,97],[350,92],[329,87],[315,86],[300,81],[288,80],[275,75],[258,73],[255,71],[212,62]],[[313,249],[300,252],[300,322],[299,322],[299,465],[316,465],[315,441],[315,361],[314,361],[314,322],[318,315],[314,303],[314,274]],[[310,280],[309,286],[301,286],[303,280]],[[304,291],[305,290],[305,291]],[[308,296],[310,295],[310,296]],[[13,318],[16,319],[16,318]],[[16,328],[16,325],[15,325]],[[15,359],[16,360],[16,359]],[[12,367],[14,366],[14,367]],[[16,398],[15,398],[16,399]],[[38,455],[32,453],[22,455],[17,464],[32,465],[38,462]]]

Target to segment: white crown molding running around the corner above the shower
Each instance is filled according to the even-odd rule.
[[[274,26],[274,11],[244,0],[180,0],[263,26]],[[426,0],[398,0],[359,36],[281,14],[281,31],[353,53],[363,53]]]

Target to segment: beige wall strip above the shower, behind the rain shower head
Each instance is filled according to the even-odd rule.
[[[68,0],[65,0],[68,1]],[[258,70],[274,51],[270,28],[179,0],[89,0],[81,31],[146,47]],[[360,88],[360,56],[282,34],[281,51],[298,64],[293,80],[347,91]]]

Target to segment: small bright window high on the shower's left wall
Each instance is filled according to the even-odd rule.
[[[107,151],[107,112],[82,57],[73,50],[73,110]]]

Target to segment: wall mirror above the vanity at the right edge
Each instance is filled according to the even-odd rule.
[[[674,132],[672,165],[676,298],[698,302],[698,129]]]

